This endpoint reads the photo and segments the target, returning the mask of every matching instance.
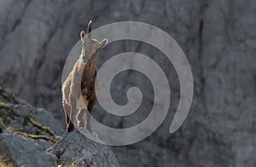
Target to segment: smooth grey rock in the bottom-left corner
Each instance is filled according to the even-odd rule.
[[[17,166],[56,166],[56,159],[53,155],[44,152],[42,147],[21,135],[1,134],[0,154],[10,158]]]

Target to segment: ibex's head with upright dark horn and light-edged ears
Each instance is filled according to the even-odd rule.
[[[91,37],[91,20],[87,27],[87,34],[84,31],[80,33],[81,41],[83,43],[82,55],[81,58],[84,62],[88,60],[95,60],[98,50],[104,48],[108,39],[103,39],[101,42],[98,42],[96,39]]]

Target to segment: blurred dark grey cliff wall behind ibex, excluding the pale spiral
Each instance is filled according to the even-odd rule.
[[[65,127],[62,67],[88,21],[93,20],[94,28],[122,20],[152,24],[172,35],[187,55],[194,101],[182,128],[168,134],[179,98],[172,63],[157,49],[135,41],[110,43],[103,49],[98,66],[125,51],[150,56],[166,72],[172,90],[170,111],[153,135],[130,146],[112,147],[120,165],[255,166],[255,14],[253,0],[1,0],[0,83],[52,112]],[[96,106],[94,116],[119,128],[141,122],[154,100],[147,78],[122,72],[113,81],[112,95],[125,104],[126,90],[134,85],[144,96],[139,111],[119,118]]]

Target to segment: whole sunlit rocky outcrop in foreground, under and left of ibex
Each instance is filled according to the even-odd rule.
[[[1,86],[0,130],[0,166],[119,166],[106,145],[78,131],[61,137],[61,124],[50,112],[9,95]]]

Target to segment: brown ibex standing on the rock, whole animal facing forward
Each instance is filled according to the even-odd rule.
[[[76,61],[73,70],[62,84],[62,104],[66,117],[67,132],[74,130],[75,118],[79,127],[86,126],[86,129],[91,131],[90,114],[92,108],[96,105],[96,93],[98,92],[96,91],[98,89],[96,58],[99,50],[106,46],[108,40],[103,39],[99,43],[91,37],[90,32],[91,21],[88,24],[87,34],[84,31],[80,33],[83,45],[79,60]],[[83,99],[85,108],[78,107],[79,99]],[[78,109],[79,112],[76,114]],[[86,125],[83,120],[85,113],[87,114]]]

